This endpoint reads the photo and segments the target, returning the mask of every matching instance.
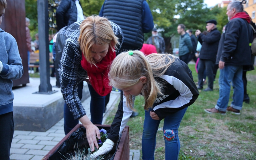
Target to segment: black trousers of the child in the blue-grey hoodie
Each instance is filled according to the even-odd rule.
[[[10,160],[10,149],[14,134],[13,113],[0,115],[0,159]]]

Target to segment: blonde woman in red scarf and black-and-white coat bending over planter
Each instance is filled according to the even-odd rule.
[[[95,135],[100,138],[99,129],[94,124],[102,123],[112,90],[108,85],[108,66],[122,45],[123,32],[106,18],[90,16],[66,27],[62,33],[66,36],[61,60],[64,131],[69,133],[79,120],[86,128],[87,140],[94,151],[94,145],[98,148]],[[86,116],[81,103],[84,80],[91,94],[91,119]]]

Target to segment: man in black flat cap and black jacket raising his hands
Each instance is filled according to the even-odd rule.
[[[203,73],[206,69],[206,75],[208,77],[208,87],[203,91],[213,91],[213,66],[216,61],[216,55],[218,51],[218,45],[220,40],[220,32],[217,30],[216,20],[209,20],[206,22],[206,28],[209,32],[204,35],[201,31],[197,30],[196,35],[198,41],[202,44],[201,52],[199,55],[198,62],[198,89],[203,89]]]

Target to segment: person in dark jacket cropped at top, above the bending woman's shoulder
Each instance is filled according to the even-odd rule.
[[[76,21],[84,20],[84,14],[79,0],[62,0],[56,11],[58,31]]]

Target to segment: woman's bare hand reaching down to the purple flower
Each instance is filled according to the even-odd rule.
[[[100,130],[94,124],[91,123],[90,119],[85,115],[79,119],[79,121],[83,124],[86,129],[86,138],[90,145],[91,151],[94,151],[94,145],[98,149],[98,143],[96,139],[96,135],[98,139],[100,139]]]

